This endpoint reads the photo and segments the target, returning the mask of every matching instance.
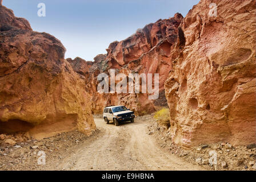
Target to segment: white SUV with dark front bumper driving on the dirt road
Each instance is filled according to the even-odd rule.
[[[115,126],[119,125],[119,122],[131,121],[134,122],[134,112],[127,109],[125,106],[107,106],[103,110],[103,118],[107,124],[109,121],[113,121]]]

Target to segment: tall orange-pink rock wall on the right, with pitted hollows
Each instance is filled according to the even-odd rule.
[[[255,1],[201,1],[179,27],[165,82],[175,143],[256,142]]]

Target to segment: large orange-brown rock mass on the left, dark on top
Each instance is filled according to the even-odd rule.
[[[64,59],[65,47],[4,6],[0,16],[0,131],[43,138],[78,127],[90,134],[90,96]]]

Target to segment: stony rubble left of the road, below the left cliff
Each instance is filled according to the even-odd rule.
[[[99,132],[98,129],[93,131],[91,137],[97,136]],[[0,171],[54,169],[61,159],[74,152],[87,138],[89,137],[79,131],[61,133],[43,140],[36,140],[26,134],[1,134]],[[15,144],[10,142],[11,140]],[[46,156],[45,165],[38,164],[38,159],[42,154]]]

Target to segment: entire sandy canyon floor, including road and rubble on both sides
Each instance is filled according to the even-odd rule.
[[[214,143],[185,150],[171,141],[169,130],[158,126],[153,115],[120,126],[99,117],[95,115],[97,130],[90,137],[79,131],[43,140],[6,135],[17,143],[0,140],[0,170],[255,170],[255,146]],[[207,163],[211,150],[217,152],[218,166]],[[42,151],[46,163],[38,165]]]

